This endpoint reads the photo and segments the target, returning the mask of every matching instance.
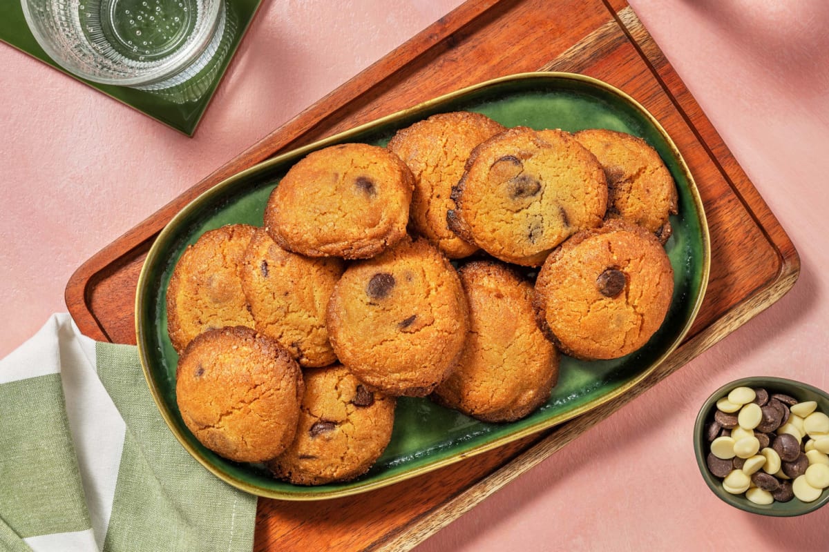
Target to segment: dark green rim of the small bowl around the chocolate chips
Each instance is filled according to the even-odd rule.
[[[717,484],[717,482],[719,482],[720,479],[717,478],[713,473],[710,473],[710,470],[708,469],[708,464],[705,461],[707,454],[705,453],[705,437],[703,435],[703,432],[705,431],[705,420],[708,419],[709,413],[715,406],[716,401],[725,396],[727,391],[730,391],[731,389],[734,389],[734,387],[739,386],[757,387],[760,386],[758,382],[764,382],[764,385],[762,385],[763,387],[768,386],[772,387],[773,389],[778,389],[782,387],[796,387],[802,391],[807,391],[808,393],[811,393],[813,395],[822,396],[824,400],[829,402],[829,392],[823,391],[822,389],[809,385],[808,383],[797,382],[796,380],[788,379],[785,377],[749,376],[739,378],[738,380],[734,380],[733,382],[728,382],[725,385],[720,386],[716,391],[714,391],[710,394],[710,396],[708,396],[705,402],[703,402],[700,411],[696,415],[696,420],[694,421],[693,434],[696,466],[697,468],[699,468],[700,473],[702,475],[702,479],[703,481],[705,481],[705,484],[708,485],[711,492],[713,492],[715,496],[718,497],[722,502],[725,502],[729,506],[738,508],[739,510],[747,511],[751,514],[757,514],[759,516],[772,517],[795,517],[808,514],[812,511],[816,511],[822,506],[825,506],[827,502],[829,502],[829,487],[823,489],[822,496],[813,502],[802,502],[799,498],[793,497],[792,501],[797,501],[800,504],[802,504],[802,509],[788,508],[787,510],[779,510],[773,507],[775,504],[777,504],[776,501],[768,505],[754,504],[754,502],[750,502],[749,499],[745,498],[744,494],[732,495],[726,492],[721,484]]]

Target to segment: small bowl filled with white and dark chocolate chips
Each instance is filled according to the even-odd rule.
[[[829,502],[829,394],[781,377],[745,377],[705,401],[694,425],[702,478],[724,502],[801,516]]]

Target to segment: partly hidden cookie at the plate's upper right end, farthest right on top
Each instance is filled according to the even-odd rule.
[[[676,184],[656,150],[625,132],[591,128],[575,133],[604,167],[608,179],[608,218],[624,218],[647,228],[662,243],[671,236]]]

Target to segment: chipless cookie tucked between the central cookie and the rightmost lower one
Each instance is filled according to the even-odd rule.
[[[559,354],[536,325],[530,282],[500,262],[458,271],[469,304],[469,334],[434,400],[487,422],[520,420],[550,398]]]

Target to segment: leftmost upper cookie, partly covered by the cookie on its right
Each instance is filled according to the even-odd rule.
[[[254,231],[248,224],[216,228],[182,253],[167,286],[167,332],[177,352],[207,329],[253,328],[240,268]]]

